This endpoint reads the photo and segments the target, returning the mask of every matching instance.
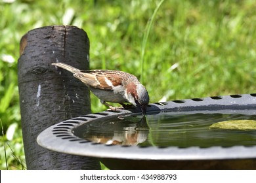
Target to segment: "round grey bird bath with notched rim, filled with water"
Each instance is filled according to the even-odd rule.
[[[60,122],[37,142],[50,150],[91,156],[110,169],[256,169],[256,130],[213,129],[230,120],[256,120],[256,95],[154,103]]]

